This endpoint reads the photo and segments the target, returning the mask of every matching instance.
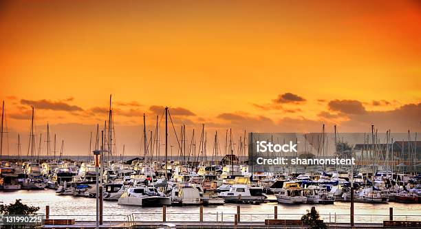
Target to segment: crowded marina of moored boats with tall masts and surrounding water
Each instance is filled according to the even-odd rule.
[[[264,222],[266,225],[276,220],[283,222],[276,221],[274,224],[285,224],[288,221],[294,226],[302,223],[301,216],[312,207],[316,207],[320,219],[325,223],[345,223],[342,226],[347,226],[347,223],[350,226],[358,223],[379,226],[388,219],[420,221],[421,175],[416,173],[415,166],[420,143],[416,141],[417,133],[413,141],[412,135],[408,133],[407,149],[400,142],[402,145],[398,157],[393,146],[400,143],[393,142],[389,131],[385,134],[386,143],[382,143],[382,137],[371,126],[371,142],[369,136],[364,134],[362,149],[356,149],[356,145],[351,147],[343,142],[344,137],[342,141],[336,141],[338,133],[335,126],[332,154],[336,160],[327,160],[338,162],[352,157],[349,166],[306,164],[307,167],[300,167],[290,164],[263,167],[259,160],[257,164],[248,162],[253,160],[254,155],[250,156],[250,149],[254,146],[253,142],[249,142],[247,147],[246,131],[239,137],[237,149],[233,144],[231,130],[229,135],[226,131],[225,153],[219,147],[216,132],[212,155],[206,155],[208,149],[204,124],[198,144],[195,142],[194,129],[188,143],[186,127],[182,125],[179,140],[172,126],[178,151],[177,155],[173,155],[173,152],[168,155],[168,132],[172,118],[169,109],[165,107],[165,129],[160,130],[158,127],[157,116],[155,133],[151,131],[148,140],[144,115],[140,155],[118,157],[114,155],[116,148],[113,140],[116,139],[111,96],[109,102],[109,119],[104,129],[100,130],[97,125],[96,138],[93,139],[91,134],[89,140],[88,155],[76,158],[66,157],[63,151],[56,155],[54,150],[52,155],[48,125],[46,155],[41,155],[40,150],[34,150],[36,142],[32,108],[28,154],[23,156],[19,153],[19,156],[6,157],[1,161],[2,204],[12,204],[14,200],[22,199],[25,204],[45,208],[45,215],[48,220],[53,220],[53,224],[54,218],[71,219],[74,224],[95,221],[99,217],[102,223],[109,221],[120,225],[118,222],[124,222],[125,226],[143,223],[144,226],[153,227],[156,225],[147,223],[160,221],[179,224],[232,221],[237,224],[257,223],[254,226],[259,228],[262,226],[259,223]],[[307,133],[297,134],[294,137],[296,142],[303,138],[305,147],[300,145],[299,151],[294,150],[285,156],[297,159],[303,155],[327,158],[328,144],[332,142],[327,141],[329,133],[325,133],[324,128],[323,125],[322,133],[308,133],[317,135],[317,146],[310,141],[310,137],[307,138]],[[153,140],[160,138],[160,131],[165,133],[164,155],[160,153],[158,141]],[[274,138],[273,135],[270,137]],[[249,138],[253,138],[253,133],[249,134]],[[40,148],[41,143],[38,146]],[[290,141],[290,148],[293,147],[297,147],[297,144],[293,145]],[[307,151],[307,147],[311,151]],[[250,152],[247,153],[248,150]],[[398,157],[399,165],[404,165],[401,159],[403,151],[407,151],[409,160],[406,162],[407,171],[397,166],[394,160]],[[354,157],[358,154],[361,160],[354,164]],[[385,161],[380,163],[380,160]],[[93,215],[92,212],[100,213]],[[275,221],[268,221],[272,219]],[[203,227],[206,228],[206,225]]]

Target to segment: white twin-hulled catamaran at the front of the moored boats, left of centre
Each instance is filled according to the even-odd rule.
[[[171,199],[159,193],[156,188],[136,186],[127,188],[118,199],[118,204],[131,206],[162,206],[171,205]]]

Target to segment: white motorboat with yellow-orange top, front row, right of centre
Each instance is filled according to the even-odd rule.
[[[275,197],[281,204],[305,204],[307,202],[307,197],[303,195],[303,188],[296,182],[285,182]]]

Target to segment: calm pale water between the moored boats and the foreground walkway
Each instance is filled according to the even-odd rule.
[[[54,190],[18,190],[14,192],[0,192],[0,201],[10,204],[15,199],[22,199],[24,204],[39,206],[39,213],[45,212],[45,206],[50,206],[50,215],[58,219],[71,218],[76,220],[94,220],[96,199],[56,195]],[[310,209],[312,205],[285,205],[265,203],[259,205],[241,204],[242,221],[263,221],[272,219],[274,206],[278,206],[279,219],[298,219]],[[421,204],[365,204],[355,203],[356,222],[381,222],[389,219],[389,207],[393,207],[395,219],[421,220]],[[325,221],[349,221],[349,203],[336,202],[334,205],[316,205],[316,209]],[[198,221],[199,206],[167,206],[167,221]],[[237,204],[223,206],[204,206],[204,221],[220,221],[222,214],[224,221],[233,221],[233,214],[237,212]],[[122,206],[116,201],[104,201],[104,220],[124,221],[125,217],[133,214],[136,220],[162,221],[162,208],[142,208],[137,206]],[[293,215],[281,215],[293,214]],[[375,216],[376,215],[376,216]],[[381,216],[379,216],[381,215]],[[402,215],[402,216],[399,216]],[[409,216],[408,216],[409,215]]]

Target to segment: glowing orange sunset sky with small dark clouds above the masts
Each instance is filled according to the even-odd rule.
[[[420,1],[2,1],[0,36],[10,154],[30,106],[37,135],[49,122],[87,153],[109,94],[127,154],[164,106],[208,145],[227,128],[421,131]]]

